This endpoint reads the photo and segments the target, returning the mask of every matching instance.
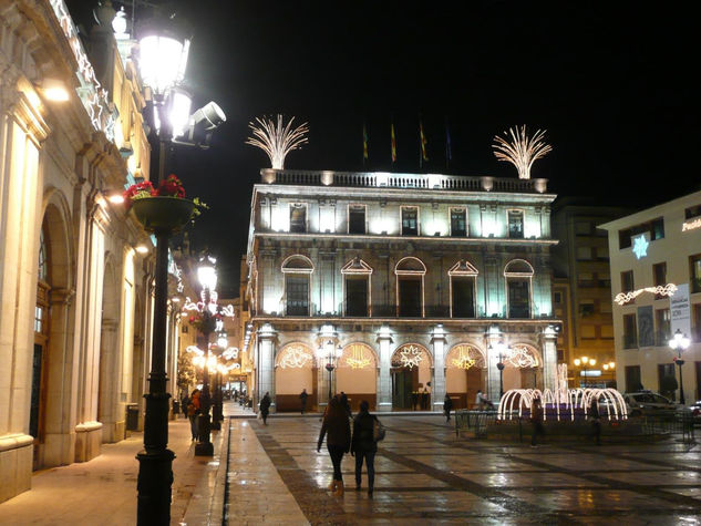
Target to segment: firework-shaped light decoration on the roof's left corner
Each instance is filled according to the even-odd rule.
[[[290,118],[290,122],[284,126],[282,115],[278,114],[277,124],[270,117],[256,117],[255,123],[248,123],[248,127],[254,132],[254,135],[248,137],[246,144],[256,146],[267,153],[268,157],[270,157],[272,169],[284,169],[287,154],[308,142],[307,137],[305,137],[305,134],[309,132],[307,123],[292,130],[293,121],[295,117]]]

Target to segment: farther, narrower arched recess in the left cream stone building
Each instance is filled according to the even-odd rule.
[[[118,363],[120,292],[114,260],[105,255],[102,295],[102,322],[100,336],[100,379],[97,383],[97,421],[102,423],[102,442],[117,442],[117,393],[121,391],[121,364]]]

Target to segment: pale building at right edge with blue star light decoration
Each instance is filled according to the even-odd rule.
[[[608,233],[619,391],[635,391],[640,385],[661,391],[664,377],[679,379],[674,361],[679,354],[669,347],[669,340],[680,330],[691,339],[682,355],[685,364],[681,368],[687,403],[698,400],[701,394],[701,192],[599,228]],[[668,293],[674,289],[670,300]]]

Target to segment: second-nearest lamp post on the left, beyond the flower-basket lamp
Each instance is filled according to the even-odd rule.
[[[195,445],[195,455],[212,456],[214,455],[214,445],[212,444],[212,423],[209,421],[209,410],[212,409],[212,396],[209,394],[209,334],[215,329],[216,301],[212,300],[213,292],[217,287],[217,271],[214,267],[215,259],[205,256],[199,261],[197,268],[197,279],[202,285],[204,308],[202,311],[202,343],[205,352],[205,367],[203,369],[202,379],[202,396],[200,413],[197,419],[199,442]],[[214,292],[216,293],[216,292]]]

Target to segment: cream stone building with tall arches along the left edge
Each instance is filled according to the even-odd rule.
[[[0,501],[143,422],[154,247],[110,197],[150,149],[114,16],[82,41],[62,0],[0,1]]]

